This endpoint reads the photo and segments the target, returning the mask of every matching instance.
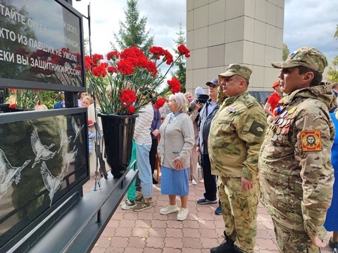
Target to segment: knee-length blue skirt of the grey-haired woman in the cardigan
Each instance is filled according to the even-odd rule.
[[[161,167],[161,194],[163,195],[189,195],[189,168],[175,170]]]

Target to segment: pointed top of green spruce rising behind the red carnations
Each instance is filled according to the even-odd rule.
[[[154,36],[150,36],[150,31],[146,31],[146,17],[139,18],[137,0],[127,0],[127,10],[125,10],[125,22],[120,20],[120,30],[114,32],[116,44],[111,42],[114,50],[121,51],[130,46],[137,46],[145,54],[154,44]]]

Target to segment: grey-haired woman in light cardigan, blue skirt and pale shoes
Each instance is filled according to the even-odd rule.
[[[169,195],[169,205],[161,214],[177,212],[177,220],[184,221],[189,209],[190,150],[194,146],[194,127],[187,115],[187,98],[183,93],[169,96],[168,107],[172,113],[165,117],[160,127],[161,141],[158,155],[161,157],[161,194]],[[177,207],[176,195],[180,196],[181,207]]]

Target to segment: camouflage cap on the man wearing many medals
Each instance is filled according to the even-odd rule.
[[[303,46],[290,53],[287,60],[271,63],[271,65],[276,68],[304,66],[323,73],[327,66],[327,59],[317,48]]]

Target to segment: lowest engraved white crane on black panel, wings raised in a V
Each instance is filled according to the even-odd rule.
[[[44,186],[46,186],[46,189],[49,190],[49,199],[51,200],[51,203],[53,202],[54,194],[60,188],[61,183],[63,181],[63,176],[65,172],[65,168],[62,169],[61,173],[58,176],[53,176],[51,174],[51,171],[49,171],[46,162],[42,162],[41,164],[41,174],[42,179],[44,181]],[[49,207],[51,207],[51,203],[49,204]]]

